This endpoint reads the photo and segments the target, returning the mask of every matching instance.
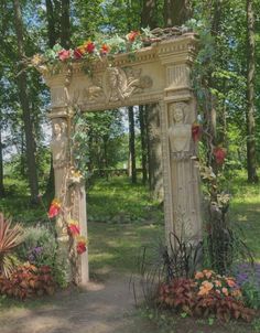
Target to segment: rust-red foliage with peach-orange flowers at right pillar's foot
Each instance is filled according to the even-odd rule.
[[[161,283],[158,302],[178,313],[185,312],[199,318],[216,315],[226,322],[230,319],[250,322],[256,313],[246,307],[235,278],[206,269],[197,271],[193,279],[176,278],[169,283]]]

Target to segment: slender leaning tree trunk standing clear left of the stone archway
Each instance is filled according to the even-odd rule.
[[[15,20],[15,32],[18,39],[18,55],[22,60],[24,56],[24,45],[23,45],[23,23],[22,13],[19,0],[13,0],[14,6],[14,20]],[[20,71],[24,69],[23,65],[20,65]],[[19,71],[19,72],[20,72]],[[22,71],[18,76],[18,94],[22,107],[22,116],[25,130],[25,142],[26,142],[26,163],[29,173],[29,183],[31,191],[31,200],[33,203],[37,202],[39,184],[37,184],[37,172],[35,162],[35,144],[32,130],[32,121],[30,115],[29,97],[26,90],[26,74]]]

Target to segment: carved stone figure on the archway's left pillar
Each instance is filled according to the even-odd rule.
[[[53,120],[53,139],[51,142],[53,152],[53,168],[66,166],[68,159],[68,138],[67,138],[67,122],[64,118],[56,118]]]

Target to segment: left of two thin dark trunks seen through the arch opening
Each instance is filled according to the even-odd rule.
[[[129,164],[130,176],[132,184],[137,183],[137,168],[136,168],[136,131],[134,131],[134,112],[133,107],[128,108],[129,118]]]

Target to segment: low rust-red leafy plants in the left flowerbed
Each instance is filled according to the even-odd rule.
[[[53,294],[54,290],[55,282],[48,266],[37,268],[26,262],[18,267],[9,278],[0,277],[1,294],[21,300],[44,293]]]

